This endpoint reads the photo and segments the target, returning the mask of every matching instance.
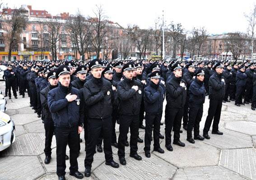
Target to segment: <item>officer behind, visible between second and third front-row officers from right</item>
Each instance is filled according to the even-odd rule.
[[[184,106],[184,112],[183,112],[183,129],[187,129],[187,122],[188,122],[188,91],[189,91],[189,87],[190,87],[190,84],[193,82],[193,77],[194,77],[194,73],[195,73],[195,66],[193,65],[192,62],[189,62],[187,65],[186,65],[188,71],[183,75],[183,80],[184,82],[186,83],[186,94],[187,94],[187,97],[186,97],[186,103],[185,103],[185,106]]]

